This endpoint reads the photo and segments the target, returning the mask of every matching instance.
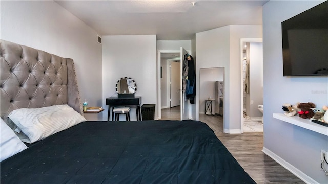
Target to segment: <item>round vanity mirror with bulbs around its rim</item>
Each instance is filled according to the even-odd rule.
[[[137,84],[130,77],[120,78],[116,83],[117,94],[134,94],[137,90]]]

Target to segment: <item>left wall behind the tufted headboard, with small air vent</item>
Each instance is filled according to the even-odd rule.
[[[81,100],[87,99],[89,106],[103,105],[101,44],[95,30],[53,1],[0,3],[1,39],[72,58]],[[101,120],[98,115],[85,117]]]

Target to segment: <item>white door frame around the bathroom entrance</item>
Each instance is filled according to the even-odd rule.
[[[240,39],[240,126],[241,126],[241,133],[244,132],[244,114],[243,114],[243,107],[244,107],[244,101],[243,101],[243,65],[242,65],[242,50],[243,50],[243,42],[261,42],[263,43],[263,38],[241,38]]]

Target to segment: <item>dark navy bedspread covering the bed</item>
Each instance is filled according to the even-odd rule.
[[[87,121],[0,163],[1,183],[255,183],[200,121]]]

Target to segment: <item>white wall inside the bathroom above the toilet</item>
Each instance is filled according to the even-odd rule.
[[[250,43],[250,113],[252,118],[262,118],[258,105],[263,105],[263,43]]]

